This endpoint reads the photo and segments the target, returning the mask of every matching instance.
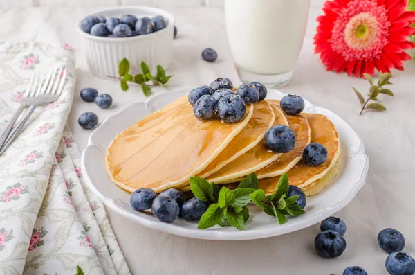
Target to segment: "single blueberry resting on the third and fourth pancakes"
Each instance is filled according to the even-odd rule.
[[[295,134],[286,125],[277,125],[265,134],[266,147],[276,153],[288,153],[295,146]]]

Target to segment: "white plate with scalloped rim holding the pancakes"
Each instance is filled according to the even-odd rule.
[[[157,220],[151,213],[138,212],[129,205],[130,194],[118,188],[107,177],[104,168],[105,150],[113,138],[122,130],[133,125],[151,112],[161,109],[176,98],[187,94],[190,89],[166,91],[150,98],[147,103],[133,103],[118,114],[107,118],[90,136],[89,143],[82,152],[82,171],[86,184],[91,191],[110,209],[130,220],[152,229],[172,233],[179,236],[206,240],[250,240],[268,238],[310,227],[333,215],[346,206],[365,184],[369,159],[365,154],[365,145],[356,132],[333,112],[312,105],[307,100],[304,112],[324,114],[337,128],[342,143],[342,168],[333,184],[322,193],[307,199],[306,213],[297,218],[288,218],[285,224],[279,225],[275,218],[266,215],[256,206],[248,206],[250,219],[243,231],[234,227],[212,227],[197,229],[197,222],[188,222],[178,218],[172,224]],[[276,90],[268,90],[267,98],[281,99],[285,94]]]

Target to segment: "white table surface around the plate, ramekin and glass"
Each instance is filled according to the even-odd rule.
[[[0,8],[0,41],[66,42],[80,46],[75,21],[102,7]],[[209,84],[227,76],[238,83],[225,34],[223,8],[167,8],[176,17],[173,74],[169,89]],[[107,209],[109,219],[133,274],[342,274],[345,267],[360,265],[369,274],[387,274],[387,254],[377,245],[385,227],[400,230],[407,240],[405,251],[415,256],[415,60],[391,80],[395,98],[380,96],[387,112],[358,116],[360,106],[351,87],[365,92],[367,82],[327,72],[313,55],[313,35],[320,8],[311,8],[308,29],[297,70],[284,93],[299,94],[332,109],[352,125],[365,141],[371,166],[367,183],[356,198],[337,215],[347,223],[347,249],[334,260],[315,254],[316,224],[286,236],[249,241],[194,240],[142,227]],[[255,39],[255,37],[252,37]],[[241,40],[243,41],[243,40]],[[212,47],[219,59],[201,59],[203,48]],[[84,149],[89,134],[77,125],[82,112],[95,112],[100,121],[131,102],[145,100],[139,89],[124,92],[118,82],[95,78],[88,72],[82,51],[77,53],[77,91],[69,125],[77,145]],[[1,77],[1,76],[0,76]],[[85,103],[80,89],[95,87],[113,96],[110,109]],[[164,89],[154,89],[154,94]]]

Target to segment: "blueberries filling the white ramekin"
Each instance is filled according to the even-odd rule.
[[[167,23],[161,15],[155,17],[141,17],[134,15],[122,15],[105,18],[103,16],[87,16],[82,20],[81,28],[85,33],[102,37],[131,37],[148,35],[158,30],[163,30]],[[174,33],[177,33],[175,28]],[[174,35],[176,36],[176,35]]]

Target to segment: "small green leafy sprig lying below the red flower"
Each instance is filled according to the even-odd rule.
[[[374,78],[372,78],[372,76],[370,76],[367,73],[363,73],[363,75],[365,76],[367,81],[369,81],[369,83],[370,83],[369,92],[367,94],[367,96],[369,96],[369,98],[367,98],[367,100],[365,100],[365,98],[363,98],[362,94],[360,94],[360,92],[357,89],[352,87],[352,89],[355,92],[356,96],[358,96],[358,99],[360,101],[360,105],[362,105],[362,109],[360,110],[359,115],[361,116],[363,114],[363,111],[365,111],[365,109],[373,109],[373,110],[376,110],[376,111],[386,111],[386,107],[383,106],[382,104],[376,103],[376,102],[375,103],[369,103],[369,100],[377,101],[379,94],[385,94],[387,96],[394,96],[394,93],[392,93],[391,90],[383,88],[384,85],[391,85],[392,84],[391,82],[389,82],[389,79],[391,78],[391,74],[390,73],[380,73],[377,85],[374,84]]]

